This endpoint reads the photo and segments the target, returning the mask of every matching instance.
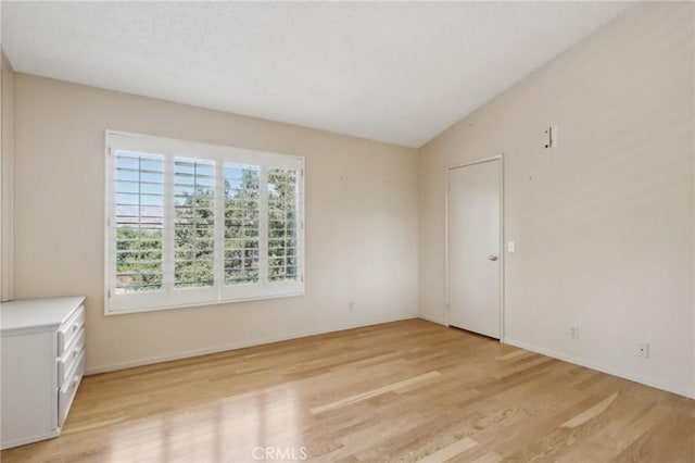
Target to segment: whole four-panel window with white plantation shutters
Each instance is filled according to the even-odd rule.
[[[106,313],[304,293],[303,158],[106,132]]]

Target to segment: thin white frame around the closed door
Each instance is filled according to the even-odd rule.
[[[500,342],[504,343],[504,154],[497,154],[490,158],[481,158],[475,161],[462,164],[453,164],[444,167],[444,304],[445,304],[445,324],[448,323],[448,312],[451,310],[448,303],[448,173],[454,168],[468,167],[485,162],[500,161]]]

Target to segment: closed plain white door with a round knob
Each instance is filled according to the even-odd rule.
[[[502,160],[447,172],[448,324],[500,339]]]

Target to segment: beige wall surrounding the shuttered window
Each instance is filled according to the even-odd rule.
[[[106,128],[304,155],[306,296],[104,316]],[[15,297],[87,296],[88,372],[417,316],[416,150],[16,74],[15,153]]]

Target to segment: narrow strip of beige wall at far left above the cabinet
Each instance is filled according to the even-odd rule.
[[[0,48],[0,301],[13,290],[14,72]]]

